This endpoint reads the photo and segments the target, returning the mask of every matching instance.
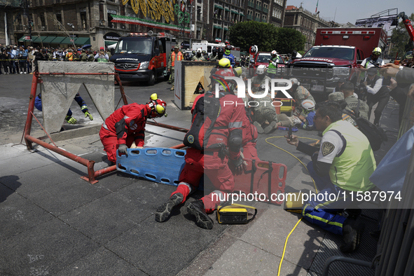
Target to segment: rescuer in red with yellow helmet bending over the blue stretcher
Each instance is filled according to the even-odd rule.
[[[137,147],[144,146],[145,123],[148,118],[167,116],[167,104],[153,93],[147,104],[127,104],[117,109],[102,124],[99,138],[104,145],[108,160],[116,163],[116,150],[127,154],[133,142]]]

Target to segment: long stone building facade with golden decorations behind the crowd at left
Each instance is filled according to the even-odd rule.
[[[170,33],[183,48],[189,48],[190,41],[228,42],[229,29],[237,22],[254,20],[283,27],[287,2],[167,0],[151,6],[146,0],[1,1],[20,4],[8,14],[13,43],[53,48],[90,44],[94,50],[130,32]]]

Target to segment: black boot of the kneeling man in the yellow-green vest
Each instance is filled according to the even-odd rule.
[[[365,224],[352,219],[345,219],[343,223],[343,241],[345,244],[341,245],[340,251],[344,253],[351,253],[359,247],[359,240],[361,240],[364,233]]]

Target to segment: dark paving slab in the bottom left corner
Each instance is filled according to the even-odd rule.
[[[60,219],[0,242],[0,275],[55,275],[99,245]]]

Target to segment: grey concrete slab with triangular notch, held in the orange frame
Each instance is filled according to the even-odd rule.
[[[114,73],[112,62],[43,62],[40,73]],[[103,120],[114,111],[113,75],[41,75],[43,125],[59,132],[76,93],[84,85]],[[88,104],[88,103],[87,103]]]

